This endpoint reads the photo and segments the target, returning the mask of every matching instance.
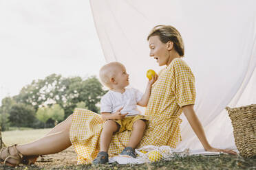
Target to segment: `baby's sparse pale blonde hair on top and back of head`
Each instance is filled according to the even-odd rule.
[[[108,88],[111,88],[111,78],[116,76],[116,66],[124,65],[120,62],[109,62],[100,68],[100,82]]]

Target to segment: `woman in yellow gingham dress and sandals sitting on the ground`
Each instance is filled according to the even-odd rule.
[[[167,25],[154,27],[149,34],[150,56],[160,66],[166,65],[153,84],[145,116],[149,125],[138,147],[144,145],[169,145],[176,147],[180,141],[180,114],[184,112],[193,131],[206,151],[223,151],[208,143],[204,130],[193,110],[195,104],[195,80],[189,66],[182,60],[184,44],[177,29]],[[98,154],[100,132],[103,119],[89,110],[76,109],[65,121],[56,125],[46,136],[24,145],[13,145],[1,149],[1,162],[30,165],[37,156],[54,154],[71,145],[78,154],[78,164],[91,162]],[[115,134],[109,146],[109,154],[120,153],[127,145],[131,132]]]

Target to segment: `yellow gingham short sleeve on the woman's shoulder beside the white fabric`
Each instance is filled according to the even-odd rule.
[[[191,68],[182,59],[176,59],[171,63],[173,81],[171,88],[177,104],[182,107],[195,104],[195,77]]]

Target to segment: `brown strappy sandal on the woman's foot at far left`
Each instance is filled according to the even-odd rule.
[[[14,148],[14,151],[16,152],[15,155],[10,155],[10,147],[3,147],[0,151],[0,160],[1,160],[1,164],[4,164],[4,165],[9,165],[9,166],[12,166],[12,167],[16,167],[16,166],[19,166],[19,164],[21,164],[23,162],[23,154],[21,154],[21,152],[16,148],[17,144],[15,145],[12,145],[10,147],[13,147]],[[3,151],[7,149],[7,156],[4,160],[2,160],[2,153]],[[14,160],[17,160],[17,164],[12,164],[10,162],[8,162],[8,159],[14,159]]]

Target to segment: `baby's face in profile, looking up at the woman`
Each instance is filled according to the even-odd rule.
[[[117,64],[115,66],[115,81],[118,88],[125,88],[129,85],[129,74],[126,73],[125,66]]]

